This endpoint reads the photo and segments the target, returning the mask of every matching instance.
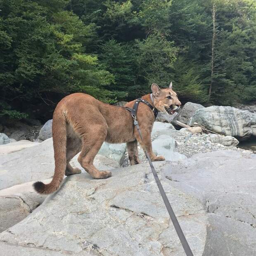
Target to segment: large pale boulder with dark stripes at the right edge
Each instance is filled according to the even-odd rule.
[[[194,122],[237,139],[256,136],[256,114],[233,107],[212,106],[198,109],[188,124],[191,126]]]

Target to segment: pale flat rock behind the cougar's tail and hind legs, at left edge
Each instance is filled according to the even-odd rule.
[[[76,158],[71,164],[84,171]],[[99,170],[109,170],[118,167],[119,164],[113,159],[97,155],[95,166]],[[2,155],[0,156],[0,190],[17,184],[51,178],[54,168],[52,138],[34,147]]]

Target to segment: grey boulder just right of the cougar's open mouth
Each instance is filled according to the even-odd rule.
[[[192,102],[187,102],[183,108],[178,112],[178,114],[173,118],[172,123],[175,125],[176,121],[180,121],[182,123],[187,124],[190,117],[193,116],[194,112],[197,111],[197,109],[203,109],[204,106]]]

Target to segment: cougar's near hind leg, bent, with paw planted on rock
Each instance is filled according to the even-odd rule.
[[[93,160],[99,152],[102,143],[107,136],[107,123],[103,119],[102,124],[93,125],[82,135],[82,150],[78,156],[78,162],[95,179],[105,179],[111,176],[110,171],[99,171],[93,165]]]

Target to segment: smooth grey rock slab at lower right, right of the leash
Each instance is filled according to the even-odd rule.
[[[172,186],[204,204],[209,225],[203,255],[256,255],[255,154],[197,154],[164,171]]]

